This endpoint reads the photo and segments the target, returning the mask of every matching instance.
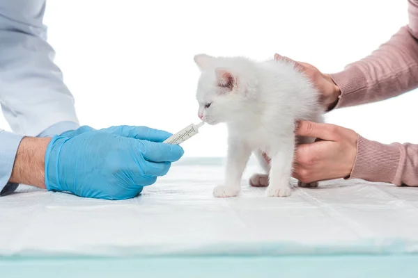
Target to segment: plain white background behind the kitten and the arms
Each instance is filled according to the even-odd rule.
[[[82,124],[171,132],[199,122],[195,54],[278,52],[338,72],[407,23],[406,0],[49,0],[45,16]],[[415,91],[334,111],[327,122],[380,142],[418,142],[417,104]],[[224,156],[225,126],[204,126],[184,147],[187,156]]]

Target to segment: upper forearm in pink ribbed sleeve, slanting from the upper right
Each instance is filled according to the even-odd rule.
[[[396,97],[418,87],[418,42],[403,27],[370,56],[331,74],[341,95],[335,108]]]

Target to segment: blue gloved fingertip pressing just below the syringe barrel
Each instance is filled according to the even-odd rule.
[[[183,148],[179,145],[169,145],[161,142],[139,141],[144,146],[142,155],[147,161],[174,162],[178,161],[183,154]]]

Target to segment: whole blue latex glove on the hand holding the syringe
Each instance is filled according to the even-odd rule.
[[[183,156],[180,146],[162,143],[169,136],[142,126],[113,126],[72,138],[55,136],[45,154],[47,190],[100,199],[135,197]]]

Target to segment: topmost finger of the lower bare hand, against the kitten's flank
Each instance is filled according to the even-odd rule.
[[[316,122],[300,121],[297,124],[296,135],[320,138],[328,141],[338,139],[339,126],[334,124],[318,124]]]

